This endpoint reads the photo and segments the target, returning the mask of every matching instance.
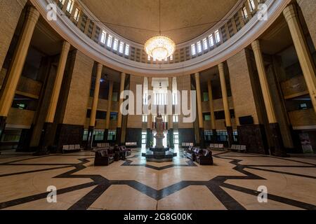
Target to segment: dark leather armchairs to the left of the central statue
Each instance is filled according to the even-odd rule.
[[[131,155],[131,149],[126,146],[97,147],[94,159],[95,166],[108,166],[114,161],[125,160],[126,156]]]

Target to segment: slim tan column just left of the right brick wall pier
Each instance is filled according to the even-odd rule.
[[[225,72],[224,72],[223,63],[218,64],[218,71],[220,75],[220,87],[222,89],[222,96],[223,96],[225,123],[226,123],[226,129],[228,133],[228,147],[230,147],[234,143],[234,133],[232,131],[232,120],[230,119],[230,105],[228,104],[228,94],[227,94],[227,88],[226,88],[226,80],[225,80]]]

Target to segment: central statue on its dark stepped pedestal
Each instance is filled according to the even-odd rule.
[[[169,148],[164,148],[162,140],[164,137],[164,120],[159,113],[155,119],[154,126],[156,127],[157,134],[154,136],[156,139],[156,146],[150,148],[149,151],[143,153],[143,156],[150,162],[172,162],[173,157],[177,156],[177,153],[169,151]]]

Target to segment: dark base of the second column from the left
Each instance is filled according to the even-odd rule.
[[[48,155],[50,153],[48,148],[51,145],[52,131],[53,123],[44,123],[41,139],[39,140],[39,148],[33,155]]]

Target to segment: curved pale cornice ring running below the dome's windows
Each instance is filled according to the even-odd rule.
[[[46,6],[53,3],[51,0],[30,0],[46,19]],[[258,20],[256,16],[252,18],[241,30],[225,43],[207,52],[204,55],[195,57],[185,62],[175,64],[144,64],[134,62],[130,59],[120,57],[106,50],[98,43],[92,41],[83,34],[74,24],[65,16],[60,15],[62,11],[58,8],[58,20],[47,21],[55,31],[71,43],[88,57],[96,60],[105,66],[124,73],[132,73],[140,76],[181,76],[186,73],[195,73],[216,66],[220,62],[225,62],[228,58],[237,54],[240,50],[250,45],[256,38],[272,25],[277,17],[291,0],[268,0],[268,20]],[[213,27],[213,29],[215,29]]]

